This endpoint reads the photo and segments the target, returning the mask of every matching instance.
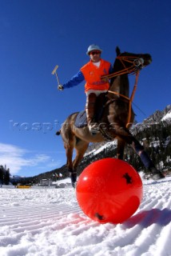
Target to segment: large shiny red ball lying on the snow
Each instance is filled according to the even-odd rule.
[[[78,178],[76,196],[82,211],[100,223],[121,223],[142,199],[139,174],[127,162],[105,158],[91,163]]]

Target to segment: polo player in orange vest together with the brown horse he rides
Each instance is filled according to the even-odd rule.
[[[89,122],[89,128],[92,130],[92,122],[94,118],[95,108],[101,106],[99,98],[101,95],[107,95],[107,103],[104,106],[101,117],[98,117],[100,133],[92,134],[86,127],[77,128],[75,120],[78,117],[78,112],[70,114],[66,121],[63,122],[61,130],[58,131],[58,135],[62,135],[64,147],[66,149],[66,166],[70,172],[70,178],[72,185],[75,187],[77,182],[77,168],[79,162],[81,162],[88,146],[89,142],[104,142],[106,140],[103,131],[105,126],[105,135],[110,140],[117,138],[117,158],[123,159],[125,143],[133,148],[133,150],[140,157],[141,162],[145,168],[151,174],[153,180],[165,178],[165,174],[161,170],[157,170],[154,163],[149,158],[149,155],[145,152],[144,147],[140,142],[129,132],[129,124],[133,122],[134,114],[131,107],[133,100],[133,93],[129,98],[129,79],[128,74],[136,74],[135,86],[137,86],[137,77],[141,68],[149,65],[152,62],[150,54],[132,54],[121,51],[117,47],[117,58],[112,67],[109,62],[105,62],[101,59],[101,49],[99,46],[91,45],[87,50],[90,61],[85,64],[75,75],[66,82],[63,86],[58,86],[59,90],[63,90],[67,87],[78,85],[82,81],[86,81],[85,93],[87,95],[86,112]],[[109,74],[109,73],[113,74]],[[108,80],[101,81],[103,78],[112,78],[110,85]],[[134,91],[134,90],[133,90]],[[97,97],[97,95],[100,96]],[[116,100],[117,98],[117,100]],[[95,104],[95,102],[97,102]],[[101,109],[97,108],[97,112],[101,112]],[[102,124],[102,126],[101,126]],[[76,156],[73,160],[73,150],[76,150]]]

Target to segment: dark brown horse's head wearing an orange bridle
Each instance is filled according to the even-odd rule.
[[[113,65],[114,72],[123,70],[123,74],[135,73],[152,62],[150,54],[121,53],[118,47],[116,48],[116,52],[117,58]]]

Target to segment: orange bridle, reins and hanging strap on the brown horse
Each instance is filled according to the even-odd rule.
[[[117,96],[121,97],[121,98],[125,98],[128,102],[129,102],[129,115],[128,115],[128,120],[126,123],[126,128],[128,128],[132,123],[130,122],[130,118],[131,118],[131,107],[132,107],[132,102],[133,102],[133,98],[135,95],[135,91],[137,90],[137,81],[139,78],[139,73],[140,70],[145,66],[144,65],[144,59],[143,58],[135,58],[134,56],[117,56],[117,59],[120,60],[122,66],[124,66],[123,70],[119,70],[117,72],[114,72],[112,74],[107,74],[102,76],[102,79],[110,79],[110,78],[114,78],[117,77],[119,75],[122,74],[135,74],[135,82],[134,82],[134,86],[133,86],[133,92],[129,97],[123,95],[123,94],[118,94],[117,92],[114,92],[112,90],[108,90],[108,93],[110,94],[116,94]],[[126,67],[125,66],[125,62],[129,62],[132,63],[131,66]]]

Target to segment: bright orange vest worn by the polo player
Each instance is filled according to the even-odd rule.
[[[109,90],[109,82],[101,81],[101,76],[109,74],[110,63],[101,59],[99,67],[88,62],[82,66],[81,71],[85,77],[85,93],[88,90]]]

